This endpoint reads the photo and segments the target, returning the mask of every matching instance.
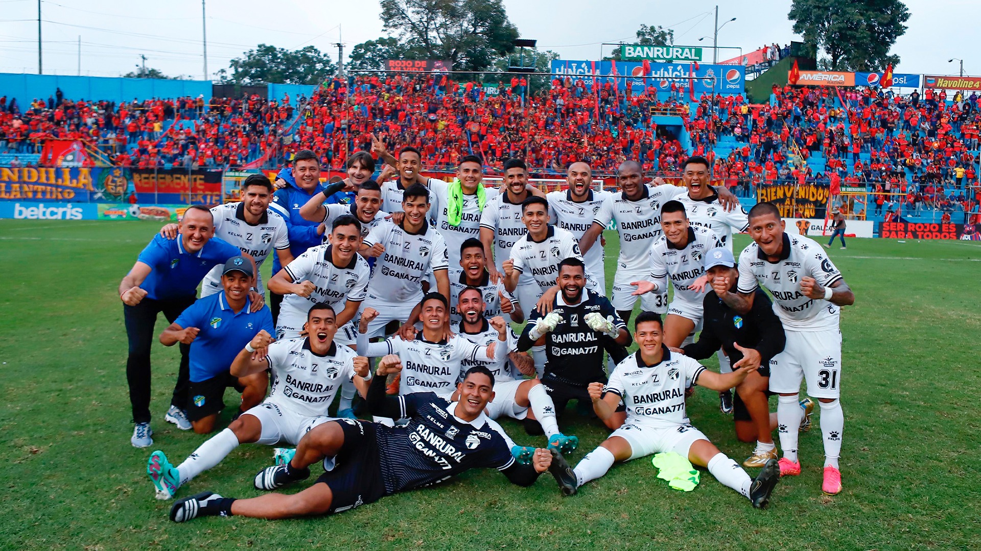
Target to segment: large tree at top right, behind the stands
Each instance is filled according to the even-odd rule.
[[[787,18],[810,53],[829,71],[882,71],[900,57],[889,55],[906,31],[909,10],[900,0],[794,0]]]

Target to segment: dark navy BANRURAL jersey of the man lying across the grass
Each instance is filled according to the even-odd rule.
[[[374,415],[409,418],[405,426],[376,425],[387,494],[434,484],[468,469],[496,469],[521,485],[538,477],[531,466],[514,462],[514,442],[484,414],[467,423],[453,415],[455,403],[433,392],[386,396],[383,376],[373,379],[366,401]]]

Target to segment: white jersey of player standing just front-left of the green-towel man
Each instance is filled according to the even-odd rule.
[[[385,252],[375,260],[368,292],[389,301],[414,301],[423,296],[420,283],[429,271],[446,270],[446,242],[439,231],[426,223],[419,233],[410,233],[391,221],[372,229],[364,244],[382,243]],[[457,255],[459,256],[459,255]]]

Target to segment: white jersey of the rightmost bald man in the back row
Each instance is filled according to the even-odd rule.
[[[661,234],[661,205],[688,192],[684,187],[669,183],[656,187],[645,184],[644,189],[644,196],[638,201],[627,199],[622,191],[611,193],[593,219],[594,223],[603,226],[611,220],[616,221],[616,230],[620,233],[617,262],[621,269],[646,270],[650,245]]]

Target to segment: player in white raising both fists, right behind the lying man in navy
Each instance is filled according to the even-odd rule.
[[[384,342],[368,342],[367,329],[371,321],[379,315],[373,308],[361,313],[358,326],[358,351],[369,358],[379,358],[397,354],[405,366],[398,393],[401,396],[413,392],[436,392],[448,398],[454,385],[463,374],[463,360],[481,364],[494,364],[507,359],[508,327],[504,319],[490,320],[490,326],[497,331],[497,339],[488,345],[474,344],[452,335],[443,338],[443,328],[448,326],[449,301],[439,293],[427,293],[421,301],[420,319],[423,322],[421,338],[403,340],[401,336],[388,337]]]

